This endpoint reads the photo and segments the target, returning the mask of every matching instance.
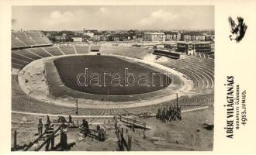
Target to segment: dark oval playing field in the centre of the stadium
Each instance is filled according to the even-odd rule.
[[[62,57],[54,60],[54,64],[68,88],[90,94],[137,95],[171,84],[171,78],[164,74],[116,57]],[[82,75],[77,79],[78,74]]]

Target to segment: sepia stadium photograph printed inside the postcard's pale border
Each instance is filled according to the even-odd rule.
[[[214,13],[12,5],[11,150],[213,151]]]

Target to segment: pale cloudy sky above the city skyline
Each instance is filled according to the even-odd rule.
[[[213,5],[12,6],[12,29],[214,29]]]

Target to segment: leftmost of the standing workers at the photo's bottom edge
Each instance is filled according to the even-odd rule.
[[[45,146],[45,150],[49,150],[49,146],[52,150],[54,148],[54,128],[50,126],[50,123],[45,125],[45,133],[47,137],[47,145]]]

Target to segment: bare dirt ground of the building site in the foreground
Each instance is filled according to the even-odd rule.
[[[118,126],[124,128],[124,136],[132,136],[133,151],[163,151],[163,150],[213,150],[213,129],[207,125],[213,125],[213,106],[198,111],[182,113],[181,121],[161,122],[156,118],[137,118],[146,122],[150,130],[130,128],[119,122]],[[28,144],[36,139],[37,120],[41,116],[23,115],[12,113],[12,146],[13,133],[17,130],[17,144],[19,146]],[[54,119],[50,118],[53,122]],[[43,118],[46,122],[46,118]],[[83,137],[78,130],[67,131],[67,143],[74,143],[71,151],[118,151],[119,146],[116,137],[114,122],[112,119],[88,119],[89,128],[95,129],[99,124],[106,128],[106,140],[100,142],[90,137]],[[74,123],[81,124],[81,119],[74,119]],[[56,128],[56,127],[55,127]],[[60,138],[55,138],[55,143],[59,143]],[[44,147],[41,149],[44,150]]]

